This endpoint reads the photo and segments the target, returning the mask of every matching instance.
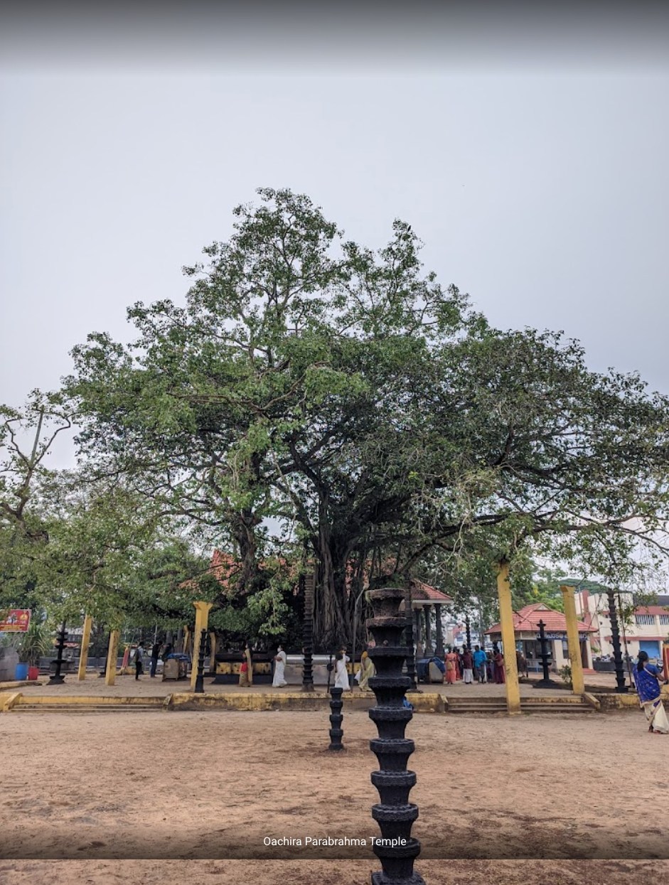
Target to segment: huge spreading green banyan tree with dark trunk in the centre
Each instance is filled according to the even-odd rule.
[[[306,196],[261,189],[184,268],[185,304],[135,304],[131,346],[93,334],[65,389],[81,455],[187,519],[258,587],[269,548],[318,563],[316,634],[350,638],[363,581],[468,536],[565,557],[664,551],[664,396],[580,346],[488,326],[425,273],[396,221],[375,252]],[[492,535],[491,535],[492,536]]]

